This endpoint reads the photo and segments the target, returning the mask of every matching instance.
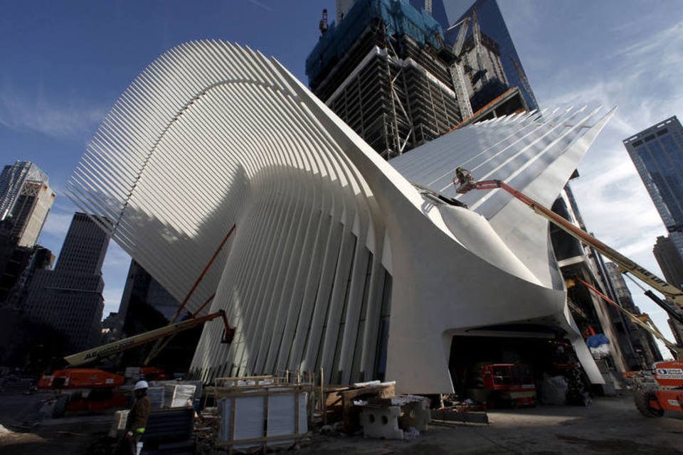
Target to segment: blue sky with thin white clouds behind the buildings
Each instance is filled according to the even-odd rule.
[[[448,0],[447,0],[448,1]],[[680,0],[499,0],[541,107],[602,103],[618,112],[573,183],[595,235],[659,272],[665,229],[621,140],[683,115]],[[0,16],[0,164],[35,161],[58,193],[40,242],[58,252],[74,206],[63,196],[85,144],[120,93],[173,45],[221,38],[273,55],[301,80],[323,8],[334,1],[5,2]],[[105,260],[105,315],[116,311],[129,258]],[[663,312],[637,303],[658,326]]]

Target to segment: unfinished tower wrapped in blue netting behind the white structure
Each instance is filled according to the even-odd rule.
[[[467,92],[453,77],[455,55],[425,11],[400,1],[359,0],[321,31],[306,61],[309,85],[384,158],[462,121],[459,103]]]

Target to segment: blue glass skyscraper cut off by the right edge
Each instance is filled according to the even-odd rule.
[[[683,127],[674,116],[623,141],[677,250],[683,255]]]

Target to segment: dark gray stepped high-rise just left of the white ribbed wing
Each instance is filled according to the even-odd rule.
[[[100,341],[107,245],[107,234],[85,213],[75,213],[55,269],[38,270],[31,281],[26,313],[63,333],[71,353]]]

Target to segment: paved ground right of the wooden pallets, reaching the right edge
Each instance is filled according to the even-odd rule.
[[[648,419],[630,397],[586,408],[543,406],[489,412],[490,424],[431,426],[411,441],[317,435],[300,455],[683,454],[683,415]]]

